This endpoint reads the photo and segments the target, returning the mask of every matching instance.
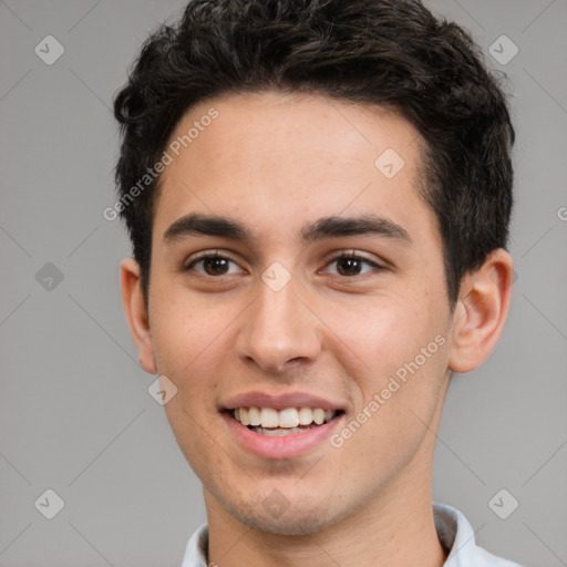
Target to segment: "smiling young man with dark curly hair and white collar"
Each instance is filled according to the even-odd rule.
[[[517,565],[431,493],[513,278],[470,37],[410,0],[195,0],[115,114],[124,307],[207,509],[183,566]]]

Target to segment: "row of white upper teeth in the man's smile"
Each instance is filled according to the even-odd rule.
[[[237,408],[235,420],[243,425],[262,427],[297,427],[298,425],[310,425],[315,422],[321,425],[333,419],[333,410],[321,408],[287,408],[275,410],[274,408]]]

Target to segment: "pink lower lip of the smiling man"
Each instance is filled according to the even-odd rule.
[[[255,433],[233,419],[227,412],[223,412],[223,419],[243,449],[262,458],[281,460],[301,456],[312,451],[330,437],[332,431],[344,419],[344,413],[317,427],[281,436]]]

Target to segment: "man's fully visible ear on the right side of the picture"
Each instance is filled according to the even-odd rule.
[[[513,282],[514,262],[503,248],[463,278],[453,313],[451,370],[470,372],[488,358],[506,321]]]

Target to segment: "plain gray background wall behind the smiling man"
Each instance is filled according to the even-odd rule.
[[[113,93],[147,32],[183,3],[0,1],[1,566],[178,566],[205,520],[198,480],[147,392],[154,378],[138,368],[124,320],[128,241],[102,216],[114,203]],[[489,360],[450,388],[434,498],[462,509],[493,553],[558,567],[567,565],[567,2],[427,4],[467,27],[488,65],[506,72],[518,134],[511,313]],[[48,34],[65,50],[52,65],[34,52]],[[505,64],[489,52],[503,34],[519,49]],[[501,60],[513,53],[507,40],[494,49]],[[48,488],[64,502],[53,519],[34,506]],[[488,505],[502,488],[501,514],[519,503],[507,519]]]

